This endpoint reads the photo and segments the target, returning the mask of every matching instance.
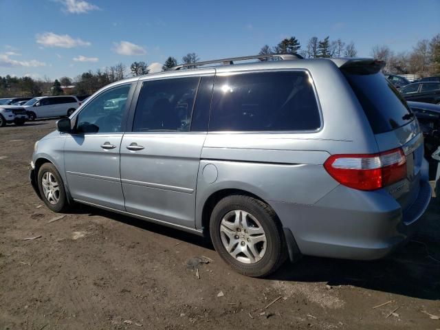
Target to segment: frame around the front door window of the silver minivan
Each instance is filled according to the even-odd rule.
[[[124,133],[126,133],[126,124],[127,124],[127,118],[129,115],[129,109],[131,107],[131,102],[133,102],[133,93],[135,91],[135,87],[136,87],[136,81],[133,82],[129,82],[129,83],[120,83],[118,85],[112,85],[111,87],[104,87],[103,89],[101,89],[101,91],[99,91],[98,94],[93,94],[92,96],[89,96],[89,100],[87,100],[87,102],[83,103],[83,107],[81,107],[82,109],[80,109],[80,111],[78,113],[75,114],[74,118],[72,118],[71,122],[72,122],[72,128],[76,128],[76,123],[78,120],[78,115],[80,115],[80,113],[82,113],[84,111],[84,109],[87,109],[87,104],[89,104],[90,102],[93,102],[96,98],[98,98],[101,94],[111,90],[111,89],[115,89],[118,87],[122,87],[122,86],[130,86],[129,89],[129,94],[127,94],[126,96],[126,104],[125,104],[125,108],[124,108],[124,113],[122,114],[122,123],[121,123],[121,131],[120,132],[98,132],[98,133],[76,133],[76,132],[72,132],[72,133],[68,133],[70,135],[74,135],[74,136],[84,136],[84,135],[123,135]]]

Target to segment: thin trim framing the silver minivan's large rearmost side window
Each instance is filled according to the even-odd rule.
[[[211,121],[211,114],[212,114],[212,98],[214,96],[214,88],[216,83],[217,76],[234,76],[237,74],[256,74],[256,73],[264,73],[264,72],[305,72],[309,78],[311,78],[311,87],[314,91],[315,99],[316,99],[316,105],[318,106],[318,113],[320,118],[320,126],[318,129],[314,130],[289,130],[289,131],[210,131],[209,124]],[[221,72],[217,73],[214,77],[214,86],[212,89],[212,96],[211,96],[211,107],[210,107],[210,120],[208,123],[208,134],[310,134],[310,133],[319,133],[324,129],[324,117],[322,116],[322,107],[321,102],[318,96],[318,91],[316,90],[315,80],[314,77],[311,75],[311,72],[309,69],[306,68],[294,68],[294,69],[252,69],[252,70],[238,70],[233,72]]]

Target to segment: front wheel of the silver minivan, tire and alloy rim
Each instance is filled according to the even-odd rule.
[[[57,186],[55,186],[57,184]],[[38,185],[44,203],[54,212],[62,212],[67,209],[67,196],[60,173],[54,164],[45,163],[39,169]],[[58,188],[58,190],[56,190]],[[52,198],[47,197],[47,190],[52,189]]]

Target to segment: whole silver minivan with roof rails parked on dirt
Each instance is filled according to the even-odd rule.
[[[37,194],[54,212],[85,203],[210,235],[248,276],[301,255],[378,259],[407,241],[430,201],[428,165],[383,63],[234,64],[252,58],[96,92],[36,142]]]

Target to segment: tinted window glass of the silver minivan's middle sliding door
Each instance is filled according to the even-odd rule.
[[[136,104],[133,132],[189,131],[199,81],[199,77],[145,81]]]

